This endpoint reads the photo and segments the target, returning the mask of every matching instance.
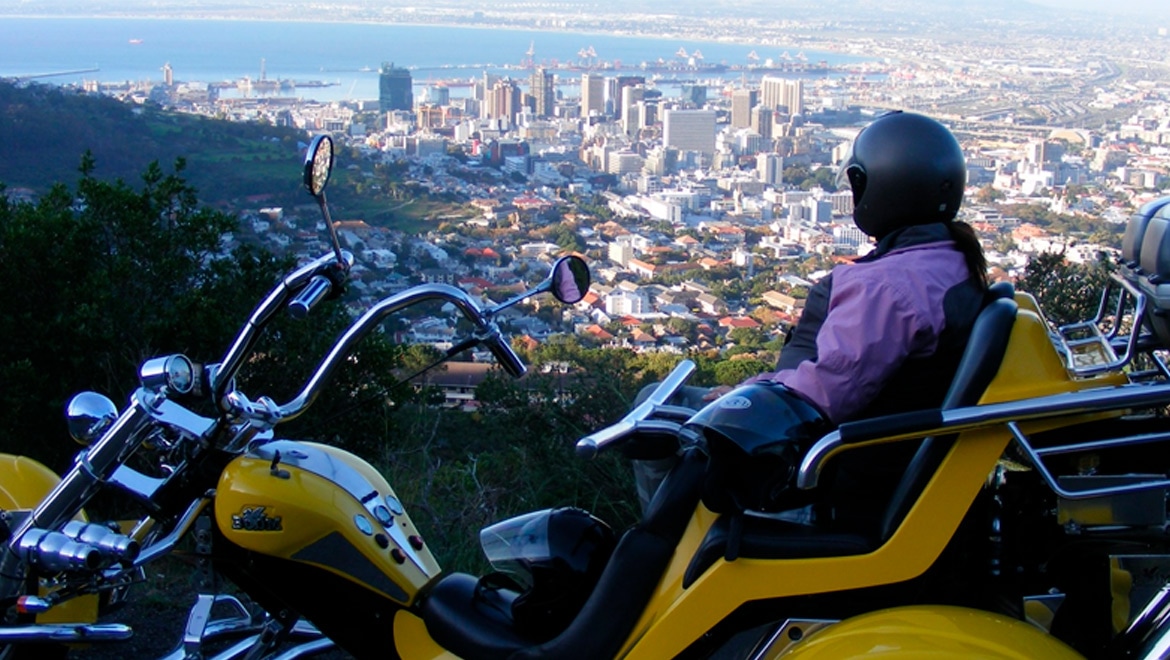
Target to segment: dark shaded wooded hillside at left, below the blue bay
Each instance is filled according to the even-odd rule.
[[[151,161],[185,178],[206,201],[282,193],[300,181],[294,129],[230,123],[133,106],[50,85],[0,82],[0,183],[46,191],[73,185],[88,150],[103,179],[136,183]]]

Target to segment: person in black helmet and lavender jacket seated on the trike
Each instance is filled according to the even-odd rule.
[[[852,190],[854,222],[876,248],[810,290],[777,370],[745,383],[784,385],[833,425],[938,406],[987,291],[979,241],[955,221],[966,184],[963,151],[938,122],[893,112],[858,135],[838,183]],[[715,387],[704,399],[729,390]],[[902,444],[834,459],[835,475],[826,474],[832,500],[851,506],[846,513],[831,502],[827,515],[866,517],[865,503],[880,511],[913,451]],[[634,462],[644,507],[670,461]]]

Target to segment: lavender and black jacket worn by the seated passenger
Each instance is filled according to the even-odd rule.
[[[945,225],[895,232],[818,282],[773,380],[833,424],[936,406],[983,303]]]

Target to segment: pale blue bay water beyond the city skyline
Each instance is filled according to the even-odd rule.
[[[453,34],[454,29],[466,32]],[[264,94],[326,102],[377,98],[384,62],[415,71],[415,84],[424,87],[466,83],[484,73],[526,80],[532,67],[548,67],[560,73],[563,87],[576,84],[580,73],[599,71],[653,76],[674,88],[696,82],[722,85],[778,71],[837,76],[845,75],[834,70],[838,67],[865,67],[875,60],[812,43],[783,46],[746,36],[303,16],[289,21],[29,13],[0,18],[0,42],[7,46],[0,51],[2,77],[129,88],[160,82],[165,68],[176,82],[216,83],[228,97],[238,94],[236,88],[223,83],[240,83],[239,94],[247,96],[254,90],[249,81],[267,80],[274,84]]]

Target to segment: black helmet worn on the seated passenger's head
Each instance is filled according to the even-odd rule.
[[[955,219],[966,186],[966,161],[955,136],[913,112],[873,121],[853,140],[838,186],[853,190],[853,221],[881,240],[910,225]]]

